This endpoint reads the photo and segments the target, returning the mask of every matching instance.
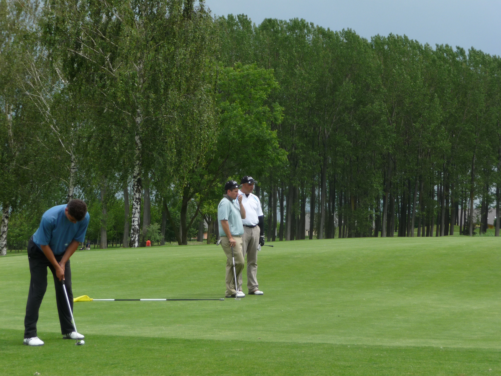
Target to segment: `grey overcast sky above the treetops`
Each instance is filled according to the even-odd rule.
[[[376,34],[407,35],[422,44],[470,47],[501,55],[501,0],[206,0],[214,15],[303,18],[324,28],[351,28],[370,40]]]

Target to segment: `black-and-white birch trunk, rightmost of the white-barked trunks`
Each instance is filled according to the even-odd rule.
[[[141,112],[138,110],[136,125],[142,123]],[[134,169],[132,171],[132,223],[130,230],[130,246],[139,247],[139,222],[141,215],[141,138],[139,132],[135,134],[136,150],[134,156]]]

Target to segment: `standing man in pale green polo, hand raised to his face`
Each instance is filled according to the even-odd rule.
[[[242,298],[244,293],[238,292],[233,278],[233,262],[231,247],[235,258],[236,279],[243,270],[242,255],[242,218],[245,218],[243,205],[236,204],[235,200],[241,203],[242,197],[238,195],[238,183],[234,180],[224,184],[224,195],[217,206],[217,221],[219,222],[219,235],[221,235],[221,246],[226,254],[226,294],[227,298]]]

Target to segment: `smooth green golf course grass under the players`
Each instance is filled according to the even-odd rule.
[[[498,238],[274,245],[259,255],[264,296],[75,303],[84,346],[60,339],[52,286],[38,325],[46,345],[21,344],[28,261],[1,258],[0,375],[501,374]],[[214,245],[77,252],[73,289],[222,297],[224,263]]]

